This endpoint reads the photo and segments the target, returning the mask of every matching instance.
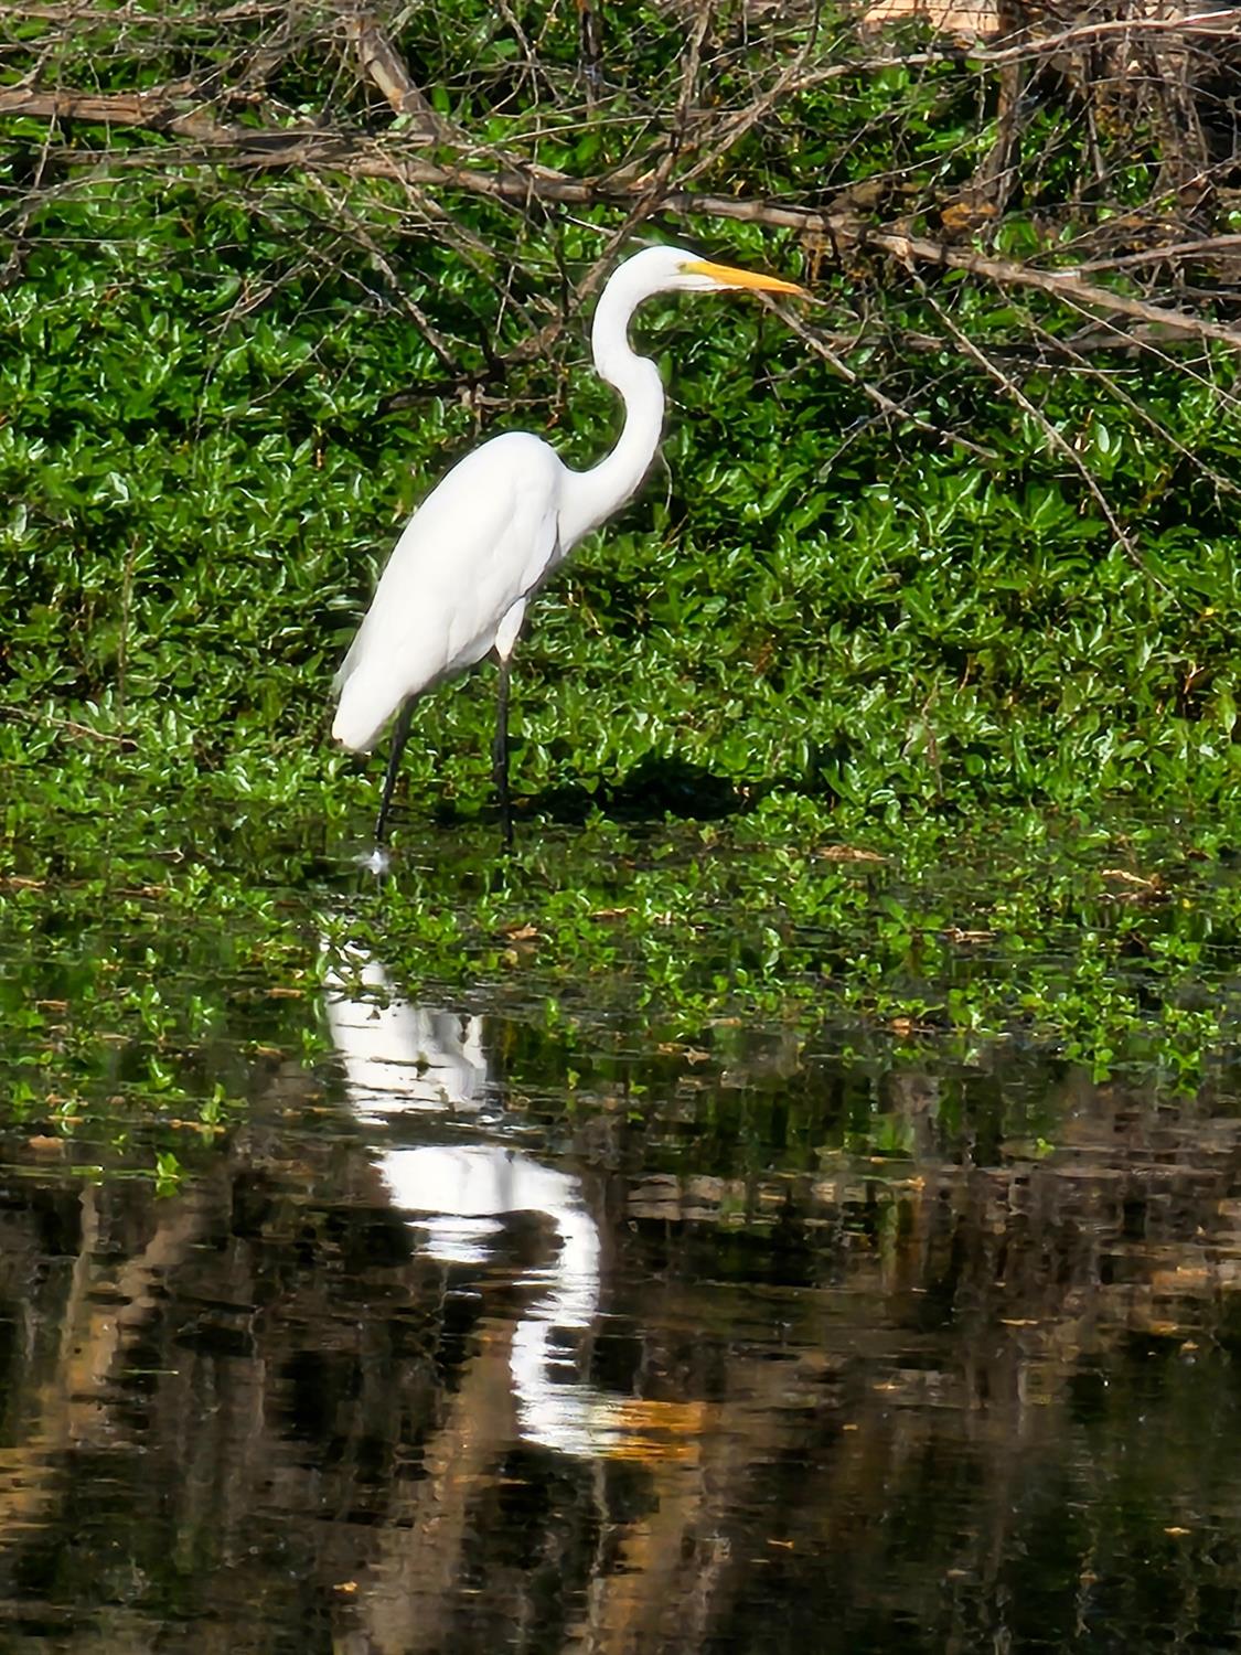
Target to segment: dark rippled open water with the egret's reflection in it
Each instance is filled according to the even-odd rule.
[[[0,1135],[2,1648],[1241,1648],[1234,1084],[346,967]]]

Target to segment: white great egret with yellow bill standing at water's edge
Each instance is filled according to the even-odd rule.
[[[392,713],[392,755],[376,821],[387,808],[415,697],[463,672],[488,650],[500,665],[491,750],[505,839],[508,803],[508,669],[526,604],[577,541],[630,498],[647,473],[664,424],[655,364],[629,346],[629,318],[655,293],[804,288],[687,253],[649,247],[616,270],[594,311],[594,366],[625,405],[620,440],[589,472],[573,472],[531,432],[493,437],[460,460],[405,525],[366,619],[336,675],[333,736],[369,751]]]

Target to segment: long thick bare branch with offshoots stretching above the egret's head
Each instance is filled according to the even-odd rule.
[[[8,10],[23,10],[10,7]],[[68,17],[71,8],[65,8]],[[266,15],[270,8],[252,5],[250,8],[233,8],[247,17]],[[30,8],[23,15],[33,15]],[[41,15],[41,13],[40,13]],[[74,17],[81,13],[74,12]],[[116,17],[119,13],[109,13]],[[971,55],[971,63],[1009,65],[1031,50],[1037,51],[1067,50],[1082,41],[1110,38],[1124,30],[1138,33],[1168,33],[1173,30],[1201,33],[1218,40],[1223,33],[1234,33],[1233,20],[1241,15],[1236,10],[1203,13],[1188,18],[1125,18],[1104,20],[1100,23],[1076,25],[1057,35],[1044,36],[1039,41],[1023,40],[1011,48],[989,53]],[[61,17],[61,12],[56,12]],[[1168,303],[1152,303],[1132,291],[1120,291],[1112,286],[1100,286],[1089,280],[1090,275],[1104,271],[1120,271],[1130,266],[1155,263],[1158,260],[1193,260],[1206,257],[1229,257],[1241,247],[1241,237],[1203,235],[1200,240],[1176,240],[1163,247],[1147,247],[1132,253],[1119,253],[1114,258],[1090,260],[1071,268],[1042,268],[1034,261],[1018,261],[996,258],[976,247],[965,247],[958,242],[933,240],[925,235],[913,235],[892,227],[872,227],[854,210],[824,212],[816,207],[793,202],[776,202],[756,199],[753,195],[718,195],[698,194],[685,187],[685,180],[697,175],[705,166],[726,152],[746,131],[761,119],[764,109],[793,86],[804,86],[821,74],[803,73],[803,66],[793,66],[788,74],[779,74],[771,86],[755,99],[753,109],[740,116],[720,116],[713,134],[698,151],[680,184],[673,180],[678,134],[683,134],[690,119],[697,119],[698,96],[698,55],[705,38],[710,8],[700,8],[688,51],[682,65],[682,84],[677,103],[677,131],[652,169],[620,172],[602,177],[573,177],[556,169],[526,161],[518,154],[495,147],[480,147],[468,142],[467,136],[445,122],[430,106],[427,98],[414,84],[407,66],[395,53],[384,31],[361,12],[346,17],[346,28],[354,43],[359,61],[369,78],[377,84],[394,109],[410,114],[415,129],[410,132],[384,132],[366,136],[347,132],[326,124],[290,124],[258,126],[240,124],[223,119],[217,104],[205,96],[202,88],[192,83],[170,83],[144,93],[94,93],[71,88],[40,88],[31,84],[0,88],[0,118],[25,116],[50,122],[65,119],[96,122],[104,126],[126,126],[134,129],[156,131],[169,139],[180,139],[190,149],[146,147],[116,149],[106,154],[89,154],[74,149],[60,164],[79,166],[83,162],[106,162],[113,169],[177,166],[199,161],[227,161],[230,166],[261,170],[301,169],[311,174],[346,174],[356,179],[387,179],[400,184],[412,195],[420,195],[427,205],[427,213],[440,210],[440,204],[427,199],[425,192],[465,192],[485,197],[518,210],[529,210],[534,204],[561,209],[614,207],[625,213],[625,220],[617,237],[627,235],[632,227],[654,213],[673,218],[703,217],[741,223],[759,223],[768,228],[791,230],[801,235],[807,247],[831,247],[837,253],[884,253],[897,258],[910,270],[918,266],[938,266],[960,270],[966,275],[1001,286],[1026,291],[1039,291],[1059,303],[1076,309],[1095,313],[1100,318],[1135,324],[1127,331],[1117,329],[1115,344],[1147,344],[1150,338],[1186,338],[1193,341],[1213,341],[1226,344],[1229,349],[1241,349],[1241,328],[1216,321],[1208,314],[1173,306]],[[950,61],[948,53],[922,53],[895,60],[902,65]],[[960,55],[956,55],[960,56]],[[877,63],[879,60],[875,60]],[[894,60],[882,60],[892,66]],[[872,66],[867,63],[829,65],[822,74],[857,73]],[[758,111],[758,113],[755,113]],[[1003,134],[1001,134],[1003,136]],[[438,149],[435,159],[425,154],[425,144],[434,139]],[[996,166],[1006,164],[1008,137],[996,149]],[[447,152],[447,154],[445,154]],[[48,157],[53,159],[53,157]],[[55,157],[60,161],[60,157]],[[994,170],[994,167],[991,169]]]

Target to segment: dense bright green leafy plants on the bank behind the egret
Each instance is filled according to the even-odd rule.
[[[141,280],[117,268],[169,215],[192,223],[192,273],[175,248]],[[261,793],[273,751],[334,773],[331,670],[397,525],[473,422],[435,397],[386,412],[434,361],[400,316],[352,306],[347,273],[230,309],[242,227],[210,187],[79,192],[46,228],[0,296],[0,751],[41,760],[68,717],[124,738],[91,748],[114,775],[189,786],[208,766]],[[111,250],[99,268],[76,250],[86,232]],[[960,371],[993,465],[913,432],[859,435],[855,394],[794,339],[707,303],[708,328],[702,305],[647,324],[675,402],[667,475],[536,609],[525,788],[597,791],[675,755],[738,789],[880,813],[1236,798],[1234,535],[1142,422],[1104,419],[1089,386],[1047,389],[1133,559],[1041,432],[983,412]],[[1186,450],[1231,465],[1213,392],[1178,397],[1172,369],[1128,377],[1119,389],[1157,401]],[[551,367],[520,389],[556,404]],[[597,452],[611,397],[582,382],[568,420],[566,447]],[[482,679],[420,715],[419,794],[482,794]]]

